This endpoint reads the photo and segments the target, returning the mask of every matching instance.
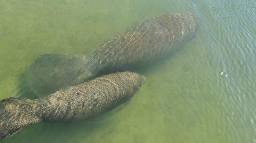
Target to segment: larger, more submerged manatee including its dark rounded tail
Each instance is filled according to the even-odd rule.
[[[154,17],[117,34],[84,57],[45,54],[26,71],[27,87],[39,97],[87,81],[101,70],[140,67],[156,62],[188,42],[199,26],[191,13]],[[22,83],[23,85],[23,83]]]

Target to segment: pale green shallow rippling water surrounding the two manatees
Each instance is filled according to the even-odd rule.
[[[0,0],[0,99],[17,94],[36,56],[87,53],[170,12],[196,12],[201,27],[139,71],[147,81],[129,104],[90,120],[37,123],[0,142],[256,143],[255,0]]]

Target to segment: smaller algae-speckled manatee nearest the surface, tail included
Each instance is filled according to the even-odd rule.
[[[0,101],[0,139],[40,121],[74,121],[90,118],[128,101],[145,77],[122,72],[101,76],[42,99],[7,98]]]

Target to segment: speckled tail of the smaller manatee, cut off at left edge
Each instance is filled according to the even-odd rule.
[[[41,101],[7,98],[0,101],[0,140],[41,121]]]

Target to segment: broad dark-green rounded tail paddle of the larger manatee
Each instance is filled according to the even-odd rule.
[[[92,74],[84,69],[84,63],[84,57],[44,54],[26,69],[22,80],[26,88],[41,98],[90,79]]]

